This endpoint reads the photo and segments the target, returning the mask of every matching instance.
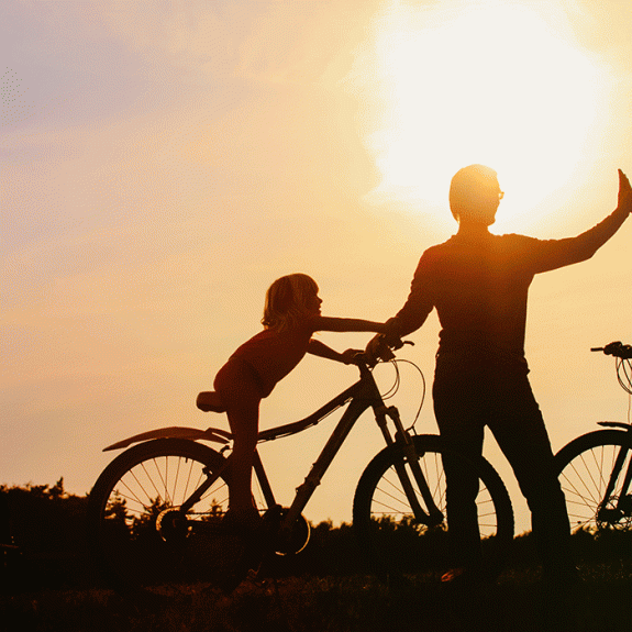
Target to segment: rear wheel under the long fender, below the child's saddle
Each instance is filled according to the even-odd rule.
[[[158,439],[126,450],[106,467],[89,495],[87,525],[96,562],[114,588],[173,597],[193,585],[211,588],[234,573],[243,543],[220,528],[228,472],[186,517],[178,512],[203,470],[224,464],[202,444]]]

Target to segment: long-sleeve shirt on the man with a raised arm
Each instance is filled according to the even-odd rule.
[[[537,273],[590,258],[623,223],[616,210],[576,237],[542,241],[523,235],[456,234],[426,250],[417,267],[398,332],[419,329],[436,308],[440,353],[491,353],[524,357],[526,298]]]

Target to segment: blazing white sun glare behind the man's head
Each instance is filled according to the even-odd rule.
[[[393,2],[377,24],[388,101],[368,137],[382,175],[370,197],[444,206],[452,175],[483,163],[499,173],[506,213],[533,210],[585,158],[597,70],[561,21],[554,31],[512,2],[451,7]]]

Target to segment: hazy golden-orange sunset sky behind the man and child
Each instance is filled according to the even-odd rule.
[[[84,495],[106,445],[228,429],[195,407],[302,271],[325,315],[382,321],[456,225],[461,167],[494,167],[492,232],[573,236],[632,176],[632,4],[619,0],[11,0],[0,23],[0,483]],[[632,343],[632,223],[589,262],[540,275],[526,356],[556,451],[629,419],[611,358]],[[400,354],[432,381],[431,314]],[[334,348],[369,334],[322,333]],[[385,389],[389,366],[376,375]],[[296,421],[356,379],[307,357],[262,404]],[[390,400],[414,417],[409,365]],[[331,431],[262,446],[289,505]],[[428,396],[417,422],[435,433]],[[306,510],[351,521],[381,448],[366,414]],[[514,502],[502,455],[486,442]]]

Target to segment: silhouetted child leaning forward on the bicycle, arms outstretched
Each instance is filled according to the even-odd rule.
[[[303,274],[277,279],[266,292],[264,330],[241,345],[218,372],[214,391],[200,392],[201,410],[226,412],[233,433],[231,494],[226,517],[257,530],[260,517],[253,505],[252,467],[258,435],[259,403],[306,353],[351,364],[354,350],[339,353],[312,339],[317,331],[384,333],[382,323],[321,315],[317,282]]]

